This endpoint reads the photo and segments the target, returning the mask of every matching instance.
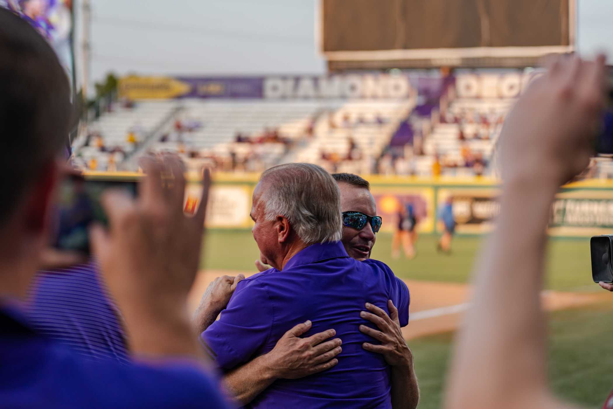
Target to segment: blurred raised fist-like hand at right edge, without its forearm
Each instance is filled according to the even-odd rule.
[[[587,167],[604,105],[604,57],[556,58],[509,112],[500,136],[507,183],[558,186]]]

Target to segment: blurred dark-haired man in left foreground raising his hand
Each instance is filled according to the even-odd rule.
[[[59,156],[69,132],[70,86],[50,45],[4,9],[0,55],[0,405],[224,407],[187,314],[205,206],[192,219],[181,212],[185,180],[177,159],[145,165],[150,175],[138,201],[107,194],[110,230],[92,231],[140,362],[88,362],[29,326],[21,299],[47,247],[65,166]],[[175,177],[166,192],[162,171]]]

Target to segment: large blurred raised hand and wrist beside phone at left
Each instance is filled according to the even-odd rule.
[[[93,250],[125,318],[132,351],[201,356],[187,299],[200,261],[210,175],[204,174],[200,207],[191,217],[183,213],[180,159],[148,158],[142,168],[147,176],[136,200],[112,191],[102,196],[109,229],[91,229]]]

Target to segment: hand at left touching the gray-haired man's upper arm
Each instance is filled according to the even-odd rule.
[[[202,295],[200,305],[194,312],[194,326],[199,334],[202,334],[215,321],[219,313],[227,307],[236,286],[244,278],[244,274],[238,274],[236,277],[224,275],[215,278],[208,285]]]

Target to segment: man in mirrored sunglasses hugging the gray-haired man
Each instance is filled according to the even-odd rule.
[[[359,220],[354,220],[355,217],[343,217],[341,242],[349,256],[358,261],[365,261],[370,258],[375,245],[376,231],[380,226],[380,221],[375,219],[373,229],[373,219],[370,223],[368,219],[364,220],[364,217],[369,215],[376,217],[376,203],[370,193],[370,183],[354,174],[333,174],[332,177],[338,183],[340,190],[341,212],[351,215],[362,213]],[[351,223],[349,219],[359,221],[359,224]],[[270,269],[270,266],[265,266],[259,260],[256,261],[256,267],[260,272]],[[238,281],[243,278],[245,276],[242,274],[237,277],[219,277],[208,286],[194,314],[196,327],[200,332],[204,332],[215,321],[219,312],[227,307]],[[413,369],[413,354],[402,336],[398,310],[391,301],[388,302],[388,308],[390,315],[375,305],[367,307],[367,310],[373,314],[367,315],[364,319],[374,323],[379,331],[368,326],[360,326],[360,331],[375,338],[381,342],[381,345],[364,343],[362,348],[383,354],[389,365],[404,369],[392,371],[390,393],[393,407],[414,409],[419,402],[419,386]],[[310,327],[310,321],[298,324],[278,340],[272,351],[228,373],[224,383],[229,396],[246,405],[276,379],[302,378],[333,367],[338,362],[334,357],[342,350],[339,346],[341,340],[339,338],[330,340],[335,335],[333,330],[311,335],[311,340],[299,338]],[[408,377],[393,379],[402,378],[404,373],[408,373]],[[403,384],[403,380],[406,383]]]

